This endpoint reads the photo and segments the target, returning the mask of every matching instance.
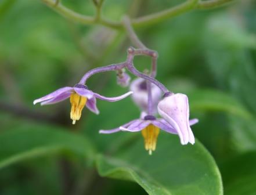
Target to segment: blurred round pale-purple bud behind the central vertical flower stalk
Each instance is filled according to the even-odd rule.
[[[131,82],[130,90],[132,93],[132,100],[140,107],[142,111],[147,111],[147,84],[143,78],[136,78]],[[152,90],[152,107],[157,108],[157,103],[160,101],[162,92],[156,85],[151,85]],[[157,113],[157,109],[153,110]]]

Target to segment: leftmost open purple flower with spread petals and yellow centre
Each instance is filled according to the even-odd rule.
[[[34,100],[34,104],[41,102],[41,105],[55,104],[62,102],[67,98],[70,98],[71,111],[70,118],[75,121],[80,120],[82,109],[86,106],[95,114],[99,114],[99,110],[96,106],[96,98],[101,100],[106,100],[108,102],[116,102],[118,100],[124,99],[131,95],[132,92],[127,92],[124,95],[117,96],[114,98],[107,98],[98,93],[92,92],[88,89],[86,85],[76,84],[74,87],[65,86],[63,88],[57,89],[56,91],[49,93],[48,95]]]

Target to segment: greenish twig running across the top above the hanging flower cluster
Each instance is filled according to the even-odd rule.
[[[60,15],[70,19],[72,21],[76,21],[81,24],[101,24],[106,27],[114,28],[114,29],[122,29],[124,28],[122,22],[120,21],[112,21],[109,19],[104,19],[100,16],[101,12],[96,13],[99,16],[92,17],[92,16],[85,16],[81,15],[80,13],[74,12],[71,9],[66,8],[63,6],[61,2],[57,5],[53,0],[41,0],[50,8],[55,10],[56,12],[60,13]],[[211,9],[217,8],[219,6],[223,6],[226,3],[233,2],[235,0],[208,0],[208,1],[199,1],[199,0],[187,0],[184,3],[176,5],[172,8],[163,10],[161,12],[152,13],[147,16],[138,17],[131,21],[132,26],[134,27],[142,27],[142,26],[150,26],[160,21],[170,19],[172,17],[181,15],[182,13],[189,12],[192,9]],[[101,8],[100,8],[101,9]]]

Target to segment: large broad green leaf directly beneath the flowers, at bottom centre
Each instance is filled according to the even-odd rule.
[[[218,167],[199,141],[182,146],[178,136],[161,134],[152,156],[144,149],[142,138],[135,139],[138,136],[111,156],[99,155],[99,174],[132,180],[154,195],[222,194]]]

